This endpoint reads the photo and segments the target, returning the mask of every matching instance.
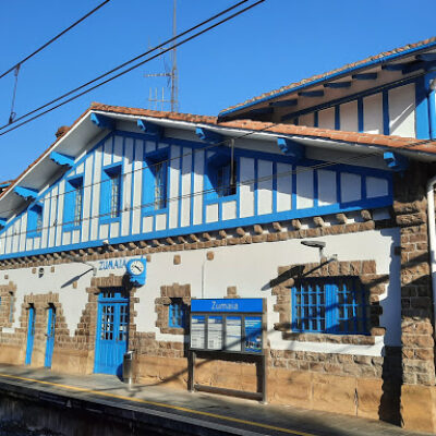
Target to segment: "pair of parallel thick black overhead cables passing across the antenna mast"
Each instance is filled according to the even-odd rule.
[[[239,3],[232,5],[232,7],[228,8],[228,9],[226,9],[226,10],[221,11],[220,13],[218,13],[218,14],[211,16],[210,19],[205,20],[204,22],[202,22],[202,23],[199,23],[199,24],[197,24],[197,25],[195,25],[195,26],[189,28],[187,31],[185,31],[185,32],[179,34],[178,36],[172,37],[172,38],[170,38],[170,39],[167,39],[165,43],[162,43],[162,44],[160,44],[160,45],[154,47],[153,49],[147,50],[146,52],[144,52],[144,53],[142,53],[142,55],[140,55],[140,56],[137,56],[137,57],[131,59],[130,61],[126,61],[126,62],[120,64],[119,66],[117,66],[117,68],[114,68],[114,69],[108,71],[108,72],[105,73],[105,74],[101,74],[100,76],[94,78],[93,81],[89,81],[89,82],[87,82],[87,83],[85,83],[85,84],[83,84],[83,85],[81,85],[81,86],[78,86],[78,87],[76,87],[76,88],[74,88],[74,89],[72,89],[72,90],[70,90],[70,92],[68,92],[68,93],[65,93],[65,94],[63,94],[62,96],[60,96],[60,97],[58,97],[58,98],[56,98],[56,99],[53,99],[53,100],[47,102],[46,105],[40,106],[39,108],[34,109],[34,110],[32,110],[31,112],[25,113],[24,116],[22,116],[22,117],[15,119],[15,121],[14,121],[12,124],[16,124],[20,120],[23,120],[24,118],[27,118],[27,117],[34,114],[35,112],[38,112],[39,110],[41,110],[41,109],[44,109],[44,108],[46,108],[46,107],[48,107],[48,106],[50,106],[50,105],[52,105],[52,104],[55,104],[55,102],[61,100],[62,98],[65,98],[65,97],[68,97],[68,96],[70,96],[70,95],[76,93],[77,90],[81,90],[81,89],[85,88],[86,86],[88,86],[88,85],[90,85],[90,84],[97,82],[97,81],[100,80],[100,78],[104,78],[105,76],[107,76],[107,75],[109,75],[109,74],[111,74],[111,73],[113,73],[113,72],[116,72],[116,71],[118,71],[118,70],[120,70],[120,69],[122,69],[123,66],[126,66],[126,65],[129,65],[129,64],[135,62],[136,60],[142,59],[142,58],[146,57],[147,55],[149,55],[149,53],[152,53],[152,52],[154,52],[154,51],[156,51],[156,50],[159,50],[160,48],[162,48],[164,46],[168,45],[169,43],[175,41],[175,40],[179,39],[180,37],[186,35],[186,34],[189,34],[189,33],[192,33],[193,31],[197,29],[198,27],[204,26],[205,24],[209,23],[210,21],[214,21],[215,19],[221,16],[222,14],[226,14],[227,12],[229,12],[229,11],[231,11],[231,10],[233,10],[233,9],[235,9],[235,8],[238,8],[239,5],[241,5],[242,3],[245,3],[245,2],[247,2],[247,1],[249,1],[249,0],[240,1]],[[225,19],[218,21],[217,23],[214,23],[214,24],[211,24],[210,26],[208,26],[208,27],[206,27],[206,28],[204,28],[204,29],[202,29],[202,31],[199,31],[199,32],[197,32],[197,33],[195,33],[195,34],[193,34],[193,35],[191,35],[191,36],[189,36],[189,37],[186,37],[185,39],[182,39],[182,40],[179,41],[179,43],[174,43],[174,44],[171,45],[170,47],[168,47],[168,48],[166,48],[166,49],[164,49],[164,50],[160,50],[158,53],[156,53],[156,55],[154,55],[154,56],[152,56],[152,57],[149,57],[149,58],[147,58],[147,59],[145,59],[145,60],[143,60],[143,61],[136,63],[136,64],[134,64],[133,66],[128,68],[128,69],[124,70],[124,71],[121,71],[120,73],[118,73],[118,74],[116,74],[116,75],[113,75],[113,76],[107,78],[106,81],[102,81],[102,82],[100,82],[100,83],[98,83],[98,84],[92,86],[90,88],[87,88],[87,89],[83,90],[82,93],[76,94],[76,95],[70,97],[69,99],[66,99],[66,100],[60,102],[59,105],[56,105],[56,106],[53,106],[53,107],[51,107],[51,108],[49,108],[49,109],[47,109],[47,110],[45,110],[45,111],[43,111],[43,112],[39,112],[39,113],[35,114],[34,117],[32,117],[32,118],[29,118],[29,119],[27,119],[27,120],[24,120],[24,121],[22,121],[22,122],[20,122],[20,123],[16,124],[16,125],[10,126],[10,124],[5,124],[5,125],[0,126],[0,130],[3,130],[3,129],[5,129],[5,128],[8,128],[8,126],[10,128],[10,129],[5,130],[4,132],[1,132],[1,133],[0,133],[0,136],[4,135],[4,134],[7,134],[7,133],[9,133],[9,132],[11,132],[11,131],[13,131],[13,130],[15,130],[15,129],[19,129],[19,128],[21,128],[22,125],[25,125],[25,124],[27,124],[28,122],[34,121],[34,120],[38,119],[39,117],[43,117],[44,114],[49,113],[49,112],[51,112],[52,110],[58,109],[59,107],[61,107],[61,106],[63,106],[63,105],[66,105],[68,102],[73,101],[73,100],[75,100],[76,98],[78,98],[78,97],[81,97],[81,96],[83,96],[83,95],[85,95],[85,94],[88,94],[88,93],[90,93],[92,90],[94,90],[94,89],[96,89],[96,88],[98,88],[98,87],[100,87],[100,86],[102,86],[102,85],[105,85],[105,84],[107,84],[107,83],[109,83],[109,82],[111,82],[111,81],[118,78],[118,77],[121,77],[122,75],[124,75],[124,74],[126,74],[126,73],[129,73],[129,72],[131,72],[131,71],[133,71],[133,70],[135,70],[135,69],[137,69],[138,66],[141,66],[141,65],[143,65],[143,64],[145,64],[145,63],[147,63],[147,62],[149,62],[149,61],[152,61],[152,60],[154,60],[154,59],[156,59],[156,58],[158,58],[158,57],[165,55],[165,53],[168,52],[168,51],[173,50],[175,47],[179,47],[179,46],[181,46],[181,45],[183,45],[183,44],[189,43],[190,40],[192,40],[192,39],[194,39],[194,38],[196,38],[196,37],[203,35],[203,34],[205,34],[205,33],[207,33],[207,32],[214,29],[215,27],[218,27],[219,25],[221,25],[221,24],[223,24],[223,23],[226,23],[226,22],[228,22],[228,21],[234,19],[234,17],[238,16],[238,15],[241,15],[242,13],[244,13],[244,12],[251,10],[252,8],[254,8],[254,7],[256,7],[256,5],[261,4],[261,3],[263,3],[263,2],[265,2],[265,1],[266,1],[266,0],[258,0],[258,1],[256,1],[255,3],[250,4],[249,7],[242,9],[242,10],[239,10],[239,11],[234,12],[233,14],[231,14],[231,15],[229,15],[229,16],[226,16]]]

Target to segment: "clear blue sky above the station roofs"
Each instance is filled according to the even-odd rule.
[[[0,4],[0,72],[68,27],[101,0],[21,0]],[[178,0],[178,31],[237,0]],[[23,114],[171,36],[172,0],[111,0],[20,72]],[[178,51],[180,110],[219,110],[291,82],[428,38],[436,2],[421,0],[267,0]],[[155,60],[122,78],[0,136],[0,180],[19,175],[92,101],[148,107],[162,80]],[[8,122],[13,75],[0,80],[0,125]]]

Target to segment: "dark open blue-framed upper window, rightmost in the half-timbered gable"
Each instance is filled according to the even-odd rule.
[[[229,153],[218,152],[207,159],[207,198],[222,198],[237,194],[238,161]]]

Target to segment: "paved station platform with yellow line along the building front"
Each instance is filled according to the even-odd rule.
[[[190,422],[218,428],[229,435],[296,436],[411,436],[424,433],[403,431],[379,421],[300,408],[261,404],[203,392],[187,392],[161,386],[129,386],[114,376],[93,374],[70,376],[50,370],[0,365],[0,384],[15,389],[38,390],[111,405],[125,415],[148,413],[165,420]]]

